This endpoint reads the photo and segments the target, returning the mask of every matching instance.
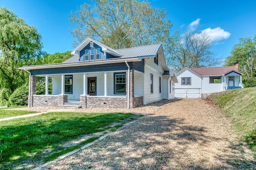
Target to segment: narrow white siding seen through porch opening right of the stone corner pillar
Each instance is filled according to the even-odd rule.
[[[134,96],[143,96],[144,74],[134,71]]]

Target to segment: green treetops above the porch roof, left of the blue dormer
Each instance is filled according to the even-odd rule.
[[[40,64],[55,64],[62,63],[63,61],[73,57],[70,54],[71,51],[66,51],[65,53],[54,53],[54,54],[46,54],[44,57],[40,59]]]

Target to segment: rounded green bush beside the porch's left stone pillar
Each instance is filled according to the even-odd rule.
[[[28,105],[28,84],[23,84],[9,98],[11,106],[26,106]]]

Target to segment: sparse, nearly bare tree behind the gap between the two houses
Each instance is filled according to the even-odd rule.
[[[209,67],[220,64],[220,59],[216,58],[216,53],[211,51],[212,41],[206,32],[196,33],[190,30],[180,33],[176,30],[170,37],[167,52],[167,65],[179,71],[185,66],[190,68]]]

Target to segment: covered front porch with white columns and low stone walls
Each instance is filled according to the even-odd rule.
[[[36,76],[45,77],[45,95],[36,95]],[[33,75],[29,107],[136,107],[143,104],[143,76],[144,73],[136,70]],[[48,94],[49,78],[52,78],[52,94]]]

